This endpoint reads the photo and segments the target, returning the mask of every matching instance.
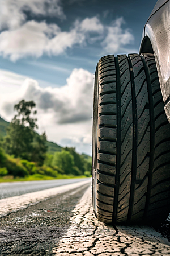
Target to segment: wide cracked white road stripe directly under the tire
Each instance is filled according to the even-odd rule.
[[[90,188],[84,193],[70,218],[70,228],[59,240],[57,256],[165,256],[170,243],[149,226],[117,226],[98,221],[92,210]]]

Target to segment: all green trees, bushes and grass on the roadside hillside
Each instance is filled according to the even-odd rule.
[[[36,104],[22,100],[11,123],[0,118],[0,181],[91,177],[91,157],[36,132]]]

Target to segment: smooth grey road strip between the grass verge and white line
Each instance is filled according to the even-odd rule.
[[[25,193],[41,191],[86,180],[90,180],[90,178],[4,182],[0,183],[0,199],[11,196],[20,196]]]

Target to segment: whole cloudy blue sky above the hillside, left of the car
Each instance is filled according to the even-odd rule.
[[[0,116],[36,103],[40,134],[91,154],[96,64],[139,53],[155,0],[0,0]]]

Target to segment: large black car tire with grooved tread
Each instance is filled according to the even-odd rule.
[[[92,199],[106,223],[161,222],[170,212],[170,125],[153,54],[108,55],[94,90]]]

